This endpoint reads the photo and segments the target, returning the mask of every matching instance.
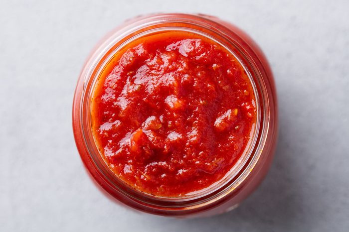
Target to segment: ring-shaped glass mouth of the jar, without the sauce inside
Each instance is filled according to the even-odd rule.
[[[190,15],[191,17],[193,15]],[[99,170],[104,178],[108,181],[115,191],[122,193],[124,196],[147,204],[149,206],[166,207],[166,208],[190,208],[197,206],[204,206],[212,201],[223,198],[233,191],[242,181],[247,177],[248,173],[253,169],[257,162],[263,147],[261,139],[265,130],[265,108],[263,108],[263,101],[265,101],[263,94],[260,92],[259,75],[260,73],[254,68],[254,64],[246,56],[245,51],[242,50],[236,41],[227,38],[225,33],[217,28],[208,27],[203,22],[211,22],[207,18],[199,16],[196,21],[186,21],[184,14],[178,14],[176,18],[167,20],[157,20],[159,16],[154,16],[154,20],[142,23],[137,21],[135,24],[130,24],[128,28],[123,31],[117,31],[108,40],[106,40],[99,49],[94,53],[92,59],[89,61],[91,65],[84,78],[84,87],[81,98],[80,120],[82,123],[82,136],[90,158],[94,165]],[[164,15],[163,15],[164,17]],[[183,17],[183,18],[180,18]],[[121,180],[106,164],[102,154],[97,148],[96,141],[92,132],[91,124],[91,101],[96,82],[107,63],[112,57],[119,52],[126,44],[137,40],[141,37],[148,36],[154,33],[162,33],[168,31],[185,31],[204,36],[226,49],[231,53],[236,60],[241,64],[245,70],[254,91],[256,100],[256,123],[251,129],[250,140],[245,147],[243,154],[239,160],[234,164],[228,173],[219,181],[213,183],[211,186],[191,192],[179,197],[163,197],[155,196],[149,193],[142,192],[138,189],[125,183]],[[83,106],[83,107],[82,107]],[[264,110],[264,111],[263,111]]]

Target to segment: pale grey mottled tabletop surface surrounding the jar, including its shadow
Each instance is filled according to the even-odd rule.
[[[275,74],[273,166],[240,208],[176,220],[129,211],[92,184],[71,107],[95,43],[125,19],[201,12],[248,32]],[[348,231],[349,1],[0,1],[0,231]]]

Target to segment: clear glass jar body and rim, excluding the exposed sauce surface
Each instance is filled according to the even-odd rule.
[[[180,30],[212,39],[231,52],[245,69],[254,88],[257,123],[246,152],[213,189],[188,197],[165,198],[137,191],[106,165],[91,129],[91,96],[96,80],[111,57],[140,37]],[[131,208],[162,216],[201,217],[236,208],[265,177],[277,140],[277,101],[273,75],[260,48],[236,26],[216,17],[191,14],[153,14],[126,21],[102,39],[85,63],[73,101],[73,131],[81,159],[107,196]]]

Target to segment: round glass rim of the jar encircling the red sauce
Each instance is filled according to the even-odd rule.
[[[239,41],[232,39],[232,37],[227,37],[227,33],[230,31],[222,31],[221,28],[214,27],[212,20],[207,17],[191,14],[158,14],[150,17],[144,17],[141,19],[136,19],[134,22],[128,24],[125,28],[117,30],[112,35],[110,35],[104,43],[100,44],[98,49],[93,55],[91,55],[90,60],[85,65],[85,70],[82,71],[80,79],[83,81],[83,89],[80,99],[80,109],[78,109],[81,122],[81,133],[84,139],[85,148],[88,151],[90,160],[94,163],[95,167],[99,171],[100,175],[104,176],[104,179],[108,181],[111,187],[115,188],[125,197],[137,201],[141,204],[146,204],[150,208],[163,208],[171,210],[190,210],[192,208],[202,208],[210,205],[220,199],[223,199],[231,192],[233,192],[248,176],[248,174],[253,169],[254,165],[257,163],[261,150],[263,149],[266,130],[268,129],[268,99],[265,98],[265,94],[261,92],[263,90],[263,83],[261,73],[257,66],[253,63],[248,53],[243,49],[243,46]],[[171,24],[178,24],[176,26],[170,26]],[[214,22],[215,24],[217,22]],[[167,26],[166,26],[167,25]],[[186,25],[186,27],[185,27]],[[165,29],[166,28],[166,29]],[[196,28],[196,30],[195,30]],[[210,191],[204,193],[203,195],[198,194],[195,197],[187,198],[174,198],[174,197],[159,197],[153,196],[148,193],[143,193],[139,190],[133,189],[131,186],[126,184],[124,181],[119,179],[111,169],[106,165],[103,160],[102,155],[99,153],[98,148],[95,144],[94,137],[91,131],[90,124],[90,104],[91,97],[94,86],[96,84],[97,78],[103,67],[105,67],[106,62],[119,51],[125,44],[129,43],[131,40],[146,36],[149,33],[164,31],[164,30],[185,30],[193,33],[200,33],[201,35],[212,39],[213,41],[219,43],[232,55],[234,55],[241,66],[245,69],[247,76],[250,79],[253,90],[255,92],[255,100],[257,107],[257,117],[256,117],[256,128],[254,132],[252,144],[246,145],[248,150],[248,155],[246,156],[246,149],[244,151],[245,160],[240,163],[239,170],[229,177],[229,180],[220,180],[220,186],[215,186]],[[230,31],[231,33],[234,33]],[[235,34],[235,33],[234,33]],[[215,37],[213,37],[215,35]],[[235,38],[238,35],[235,34]],[[243,41],[240,41],[243,42]],[[243,44],[246,45],[246,44]],[[237,53],[239,52],[239,53]],[[252,61],[252,62],[251,62]],[[257,87],[260,87],[259,89]],[[79,101],[79,100],[77,100]],[[91,139],[92,138],[92,139]],[[251,139],[250,139],[251,140]],[[96,153],[96,149],[98,154]],[[241,156],[241,157],[242,157]],[[240,159],[241,159],[240,157]],[[103,166],[104,165],[104,166]],[[235,167],[234,164],[233,167]],[[233,168],[232,167],[232,168]],[[230,171],[229,171],[230,172]]]

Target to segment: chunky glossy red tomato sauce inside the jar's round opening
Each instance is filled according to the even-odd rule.
[[[213,40],[180,31],[139,38],[114,55],[91,107],[95,142],[109,168],[163,197],[221,180],[256,123],[241,64]]]

